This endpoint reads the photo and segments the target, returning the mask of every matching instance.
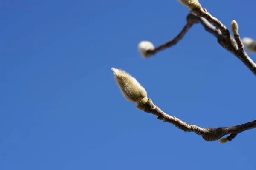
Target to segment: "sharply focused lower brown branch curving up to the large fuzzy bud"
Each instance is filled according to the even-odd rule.
[[[147,105],[144,107],[144,111],[146,113],[151,113],[158,116],[158,119],[171,123],[185,132],[194,132],[202,136],[206,141],[216,141],[228,134],[230,134],[230,136],[228,136],[226,139],[231,141],[237,136],[238,133],[256,128],[256,120],[241,125],[220,128],[202,128],[197,125],[190,125],[174,116],[164,113],[160,108],[153,104],[151,99],[148,99]]]

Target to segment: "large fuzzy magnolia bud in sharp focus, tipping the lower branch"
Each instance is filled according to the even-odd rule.
[[[111,68],[111,70],[114,72],[116,83],[125,98],[141,105],[142,107],[139,107],[138,109],[142,110],[147,102],[147,91],[145,88],[143,88],[142,85],[140,85],[140,83],[126,71],[116,68]]]

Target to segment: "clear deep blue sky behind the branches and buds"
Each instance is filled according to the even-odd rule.
[[[253,0],[201,4],[256,38]],[[201,127],[254,120],[256,77],[201,25],[140,57],[141,40],[171,40],[188,13],[176,0],[2,0],[0,169],[256,169],[255,130],[206,142],[137,110],[115,84],[110,68],[125,69],[163,111]]]

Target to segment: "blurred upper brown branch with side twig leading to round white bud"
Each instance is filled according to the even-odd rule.
[[[227,29],[227,27],[221,23],[217,18],[212,17],[212,15],[207,12],[206,9],[199,10],[198,14],[190,13],[187,16],[187,24],[183,28],[183,30],[180,32],[180,34],[177,35],[173,40],[158,46],[154,50],[147,51],[148,54],[154,55],[157,52],[160,52],[166,48],[170,48],[173,45],[177,44],[182,38],[185,36],[185,34],[189,31],[189,29],[193,26],[193,24],[201,23],[202,26],[205,28],[207,32],[212,34],[214,37],[217,38],[218,43],[225,48],[227,51],[230,51],[230,53],[234,54],[238,59],[240,59],[247,68],[250,69],[250,71],[253,72],[254,75],[256,75],[256,64],[253,62],[253,60],[248,56],[248,54],[244,51],[243,43],[241,41],[240,37],[235,36],[236,41],[230,34],[230,31]],[[212,23],[214,26],[212,26],[210,23]],[[240,39],[240,40],[239,40]],[[238,45],[236,44],[238,42]],[[241,50],[243,48],[243,50]]]

